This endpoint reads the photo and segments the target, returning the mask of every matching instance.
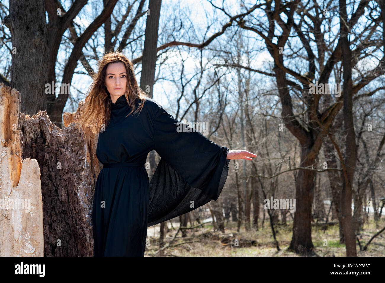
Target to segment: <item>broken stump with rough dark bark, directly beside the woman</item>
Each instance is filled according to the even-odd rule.
[[[13,91],[19,97],[14,103],[20,104],[20,94]],[[1,97],[8,92],[9,87],[0,87]],[[101,165],[94,153],[95,135],[76,123],[76,113],[65,113],[62,129],[52,124],[46,111],[17,116],[20,134],[11,140],[20,140],[21,158],[35,160],[41,172],[44,256],[93,256],[92,200]]]

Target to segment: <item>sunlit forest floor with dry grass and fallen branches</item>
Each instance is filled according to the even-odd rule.
[[[159,255],[159,226],[147,229],[145,256]],[[173,223],[173,226],[174,229],[171,228],[165,233],[166,245],[169,245],[174,238],[179,223]],[[378,222],[377,227],[372,219],[369,223],[365,223],[358,236],[362,248],[384,226],[384,219]],[[277,251],[269,223],[265,222],[263,229],[259,227],[258,230],[251,229],[251,231],[245,231],[244,226],[241,226],[239,233],[235,222],[228,222],[225,227],[225,233],[222,233],[214,231],[212,224],[207,223],[204,224],[204,228],[186,229],[186,236],[183,238],[179,231],[171,246],[164,249],[162,256],[300,256],[288,251],[292,222],[288,222],[286,226],[276,226],[280,251]],[[331,225],[313,223],[311,238],[314,245],[313,256],[346,256],[345,244],[340,244],[339,241],[338,223]],[[367,251],[360,251],[360,246],[357,241],[356,243],[357,256],[385,256],[385,231],[372,240]]]

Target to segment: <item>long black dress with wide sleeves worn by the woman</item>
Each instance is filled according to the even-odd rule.
[[[147,227],[217,200],[228,175],[227,147],[200,132],[180,132],[179,122],[150,98],[126,117],[130,110],[122,95],[99,133],[94,256],[144,256]],[[149,183],[144,165],[153,149],[161,160]]]

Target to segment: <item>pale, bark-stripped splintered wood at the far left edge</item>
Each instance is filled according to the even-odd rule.
[[[0,255],[43,256],[40,168],[22,160],[20,93],[0,84]]]

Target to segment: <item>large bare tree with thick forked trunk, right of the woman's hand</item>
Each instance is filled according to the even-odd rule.
[[[333,2],[328,2],[325,8],[327,10],[332,10],[332,3]],[[349,30],[353,28],[358,19],[363,15],[367,5],[368,0],[360,1],[352,17],[345,23]],[[335,67],[337,62],[342,60],[342,42],[341,39],[338,40],[335,49],[325,63],[326,45],[325,42],[323,42],[325,37],[323,32],[321,32],[321,25],[323,24],[323,21],[330,22],[331,18],[320,18],[312,15],[312,13],[315,15],[322,14],[322,9],[317,3],[312,3],[312,6],[309,8],[304,7],[299,0],[288,3],[275,1],[274,7],[272,7],[272,2],[266,2],[264,3],[264,6],[268,27],[264,28],[258,23],[253,24],[252,20],[250,20],[250,23],[245,19],[237,22],[240,27],[255,32],[266,43],[266,47],[274,60],[273,70],[282,104],[283,121],[285,126],[301,144],[300,166],[304,169],[299,169],[298,175],[296,176],[296,200],[299,205],[297,206],[295,213],[293,238],[291,240],[290,249],[297,252],[306,252],[313,249],[311,241],[311,206],[315,177],[315,171],[306,168],[311,168],[315,165],[315,158],[321,149],[323,139],[333,124],[338,111],[341,109],[341,102],[343,100],[343,95],[340,95],[335,102],[332,102],[330,105],[325,105],[324,109],[320,109],[322,106],[321,102],[323,102],[322,99],[325,95],[318,91],[312,93],[310,88],[311,83],[315,79],[316,58],[320,65],[318,84],[325,85],[329,80],[333,67]],[[298,13],[298,16],[302,19],[298,24],[294,20],[295,12]],[[287,20],[284,20],[281,17],[282,13],[286,15]],[[306,22],[305,17],[306,19],[310,19],[310,22]],[[380,20],[381,18],[373,19],[375,22],[379,22]],[[277,23],[282,30],[279,36],[276,35],[275,23]],[[310,32],[313,33],[315,40],[302,31],[303,25],[312,27]],[[286,67],[284,64],[284,53],[282,51],[285,45],[288,44],[291,28],[294,29],[303,45],[303,49],[306,51],[305,56],[309,67],[308,72],[303,75],[296,70]],[[372,30],[372,26],[370,26],[369,29]],[[265,33],[267,33],[267,35],[265,35]],[[352,57],[358,55],[363,48],[377,45],[377,41],[370,39],[372,33],[370,33],[369,38],[362,40],[362,43],[356,43],[356,46],[358,47],[352,51]],[[277,44],[273,42],[273,39],[275,38],[277,39]],[[360,37],[358,37],[358,39],[359,38]],[[311,41],[316,43],[318,57],[316,57],[311,49]],[[295,51],[292,52],[292,54],[294,53]],[[380,63],[380,65],[381,64],[382,63]],[[302,87],[297,82],[287,79],[286,74],[291,75],[298,80]],[[352,94],[356,94],[358,90],[362,89],[362,87],[380,74],[383,74],[381,68],[377,68],[376,70],[373,70],[373,72],[367,74],[360,82],[355,84],[352,89]],[[290,87],[293,88],[292,93],[301,98],[304,106],[303,113],[295,112]],[[344,91],[345,90],[341,93]]]

